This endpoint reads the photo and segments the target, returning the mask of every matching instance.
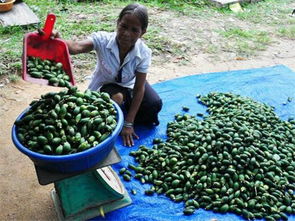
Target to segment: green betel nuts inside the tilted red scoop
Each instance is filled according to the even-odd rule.
[[[48,84],[58,87],[69,87],[70,76],[64,71],[61,62],[42,60],[39,57],[29,56],[27,71],[33,78],[47,79]]]

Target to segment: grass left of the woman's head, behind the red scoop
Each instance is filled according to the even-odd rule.
[[[39,17],[40,24],[27,27],[0,26],[0,60],[3,63],[0,68],[0,76],[15,73],[17,68],[13,64],[21,61],[23,36],[36,31],[38,27],[43,28],[49,12],[56,15],[54,29],[60,32],[62,38],[82,40],[95,31],[114,31],[119,11],[126,3],[120,1],[76,3],[75,1],[27,0],[26,4]],[[89,55],[73,57],[73,60],[82,59],[81,64],[87,66],[90,60],[94,67],[95,59],[89,59]],[[19,70],[17,70],[18,72]]]

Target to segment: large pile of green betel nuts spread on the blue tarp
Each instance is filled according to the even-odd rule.
[[[207,116],[187,113],[168,123],[167,140],[131,151],[138,165],[120,173],[152,184],[147,195],[246,219],[287,220],[295,213],[295,121],[232,93],[197,96]],[[186,110],[187,111],[187,110]],[[203,119],[198,119],[203,116]]]

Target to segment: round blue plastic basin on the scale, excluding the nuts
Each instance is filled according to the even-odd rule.
[[[27,155],[35,165],[40,168],[44,168],[49,171],[62,172],[62,173],[74,173],[87,170],[97,163],[105,159],[105,157],[111,152],[118,135],[123,127],[123,113],[121,108],[113,102],[113,105],[117,111],[117,126],[113,133],[99,143],[97,146],[89,148],[88,150],[69,154],[69,155],[45,155],[34,151],[31,151],[27,147],[21,144],[17,137],[17,126],[12,127],[12,141],[19,151]],[[18,117],[17,120],[22,119],[26,112],[26,109]]]

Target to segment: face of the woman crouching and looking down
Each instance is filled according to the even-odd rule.
[[[120,49],[129,50],[144,33],[145,30],[141,29],[141,23],[135,15],[124,15],[117,23],[117,41]]]

